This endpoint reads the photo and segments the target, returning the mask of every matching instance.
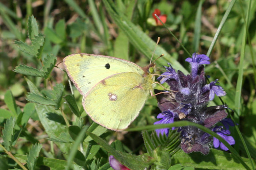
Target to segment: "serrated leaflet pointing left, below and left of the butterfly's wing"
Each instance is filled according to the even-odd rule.
[[[52,99],[43,97],[43,96],[35,94],[35,93],[30,93],[30,92],[28,92],[28,95],[26,95],[26,99],[30,102],[43,104],[43,105],[54,106],[56,104]]]

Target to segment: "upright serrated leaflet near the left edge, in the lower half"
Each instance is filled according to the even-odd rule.
[[[15,126],[15,118],[10,117],[6,120],[3,129],[3,145],[6,150],[10,151],[13,142],[13,134],[14,134],[14,126]]]

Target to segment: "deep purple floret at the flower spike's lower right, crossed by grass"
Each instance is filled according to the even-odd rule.
[[[230,135],[230,131],[223,129],[223,126],[215,126],[215,128],[213,128],[213,132],[217,133],[220,137],[226,140],[229,145],[235,144],[234,138],[232,136],[227,136]],[[215,137],[213,137],[213,146],[214,148],[218,148],[220,146],[224,151],[228,150],[228,148]]]

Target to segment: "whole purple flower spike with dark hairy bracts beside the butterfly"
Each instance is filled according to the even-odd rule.
[[[209,60],[207,55],[193,53],[191,58],[186,59],[191,65],[191,72],[187,75],[180,70],[175,72],[168,63],[169,67],[165,67],[166,72],[161,74],[157,80],[160,83],[166,82],[170,90],[154,90],[158,107],[162,112],[157,116],[160,120],[154,124],[167,124],[181,120],[198,123],[216,132],[230,145],[233,145],[235,141],[232,136],[229,136],[230,131],[228,130],[229,125],[233,125],[233,123],[229,119],[225,119],[228,115],[225,109],[228,106],[225,104],[207,107],[215,94],[217,96],[226,95],[221,86],[215,85],[218,83],[218,79],[206,84],[203,64],[210,64]],[[161,93],[162,91],[165,93]],[[223,126],[215,126],[218,122],[222,122],[226,129],[223,129]],[[228,150],[217,138],[193,126],[177,126],[155,131],[157,135],[161,133],[168,136],[170,130],[174,129],[180,133],[180,147],[185,153],[201,152],[206,155],[209,153],[213,139],[215,148],[221,147],[223,150]]]

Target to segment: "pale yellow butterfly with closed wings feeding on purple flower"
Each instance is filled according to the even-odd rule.
[[[83,96],[85,112],[107,129],[122,131],[152,95],[155,64],[141,68],[120,58],[71,54],[63,59],[70,80]]]

